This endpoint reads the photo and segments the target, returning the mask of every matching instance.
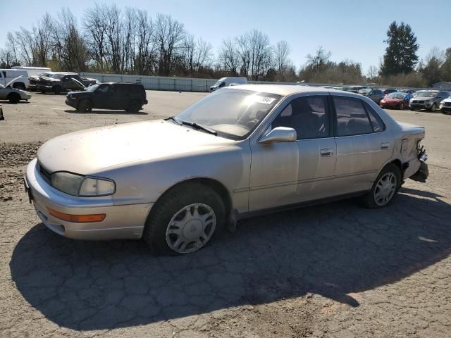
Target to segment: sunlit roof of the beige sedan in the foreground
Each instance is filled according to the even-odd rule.
[[[347,93],[338,89],[330,89],[324,87],[313,87],[313,86],[297,86],[294,84],[240,84],[233,87],[227,87],[230,90],[243,89],[252,90],[254,92],[263,92],[269,94],[277,94],[281,96],[288,96],[291,94],[298,93],[309,93],[309,92],[336,92],[336,93]],[[223,90],[223,89],[220,89]],[[357,95],[357,94],[356,94]],[[359,96],[357,96],[359,97]]]

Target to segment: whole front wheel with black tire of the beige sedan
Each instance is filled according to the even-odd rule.
[[[225,223],[226,207],[214,189],[197,182],[186,183],[170,189],[156,202],[142,238],[153,253],[180,255],[202,249]]]

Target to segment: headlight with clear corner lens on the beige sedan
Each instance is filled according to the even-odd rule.
[[[116,192],[116,184],[112,180],[65,172],[51,174],[51,185],[73,196],[105,196]]]

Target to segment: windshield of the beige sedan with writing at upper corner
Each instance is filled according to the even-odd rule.
[[[204,125],[230,139],[245,139],[282,96],[243,89],[222,89],[179,113],[178,120]]]

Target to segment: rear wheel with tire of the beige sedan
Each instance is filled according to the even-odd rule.
[[[366,208],[383,208],[388,206],[401,187],[400,168],[395,163],[388,163],[379,173],[371,190],[364,196]]]

